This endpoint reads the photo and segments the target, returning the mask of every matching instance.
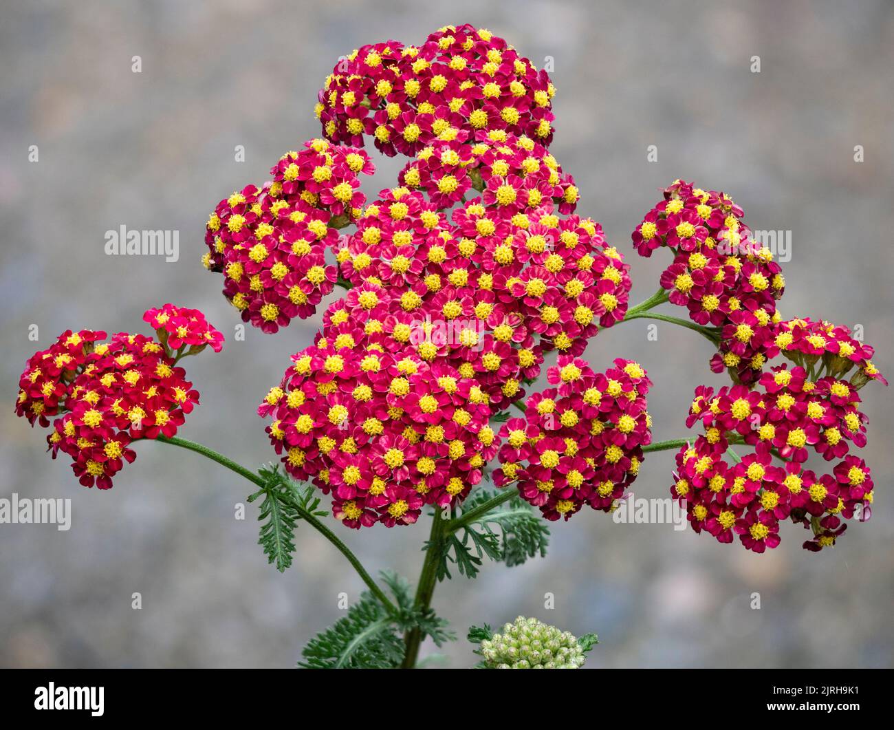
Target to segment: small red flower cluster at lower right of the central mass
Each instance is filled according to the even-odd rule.
[[[614,364],[594,373],[586,361],[560,356],[547,371],[556,387],[528,398],[525,418],[501,429],[495,482],[517,483],[549,520],[568,520],[583,505],[611,512],[637,478],[652,442],[645,410],[652,382],[634,361]]]

